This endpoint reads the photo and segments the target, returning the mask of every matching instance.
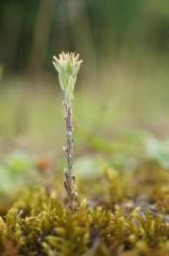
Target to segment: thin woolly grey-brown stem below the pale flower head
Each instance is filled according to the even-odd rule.
[[[72,111],[73,111],[73,100],[71,104],[68,104],[66,101],[66,93],[62,91],[62,99],[63,99],[63,107],[65,112],[65,124],[66,124],[66,147],[63,147],[64,155],[67,160],[67,168],[65,170],[65,182],[64,186],[66,192],[68,194],[69,199],[69,208],[72,211],[76,211],[76,199],[77,199],[77,191],[76,191],[76,180],[75,176],[73,175],[73,150],[74,150],[74,127],[72,121]]]

